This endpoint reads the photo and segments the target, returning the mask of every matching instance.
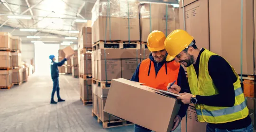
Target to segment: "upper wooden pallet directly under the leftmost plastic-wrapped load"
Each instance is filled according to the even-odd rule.
[[[98,41],[92,45],[93,50],[97,49],[140,49],[139,41]]]

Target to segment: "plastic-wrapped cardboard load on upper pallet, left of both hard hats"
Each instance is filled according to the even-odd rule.
[[[139,41],[136,0],[97,0],[91,13],[92,42]]]

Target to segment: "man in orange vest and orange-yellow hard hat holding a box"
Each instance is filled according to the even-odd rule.
[[[147,86],[167,91],[169,82],[175,82],[186,92],[188,82],[183,67],[174,60],[166,61],[166,50],[164,46],[165,34],[160,31],[153,31],[148,35],[147,48],[151,51],[149,58],[143,60],[133,74],[131,81],[142,82]],[[178,115],[174,118],[174,131],[181,119],[186,115],[188,105],[181,105]],[[151,132],[142,126],[135,124],[134,132]]]

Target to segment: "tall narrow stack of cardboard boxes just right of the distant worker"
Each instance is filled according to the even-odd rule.
[[[92,103],[91,89],[91,27],[83,26],[79,33],[79,85],[80,98],[84,105]]]

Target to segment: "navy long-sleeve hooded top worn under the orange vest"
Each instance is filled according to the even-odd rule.
[[[163,60],[160,63],[156,63],[152,54],[149,55],[149,59],[152,60],[152,62],[154,63],[155,66],[155,76],[158,74],[159,70],[161,69],[161,67],[165,64],[166,60]],[[168,62],[167,62],[168,63]],[[135,73],[133,74],[131,81],[135,81],[135,82],[139,82],[139,66],[140,64],[137,66],[137,69],[135,71]],[[185,70],[183,69],[183,67],[180,67],[179,70],[179,74],[178,74],[178,79],[177,79],[177,85],[179,85],[181,87],[181,91],[180,93],[183,92],[189,92],[189,85],[188,85],[188,81],[186,78],[186,74],[185,74]],[[178,115],[183,118],[186,115],[186,111],[188,109],[188,105],[184,105],[181,104],[180,110]]]

